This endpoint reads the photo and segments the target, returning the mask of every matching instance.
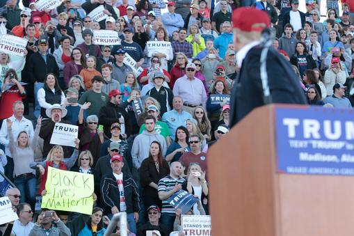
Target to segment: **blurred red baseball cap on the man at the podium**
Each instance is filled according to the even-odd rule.
[[[264,10],[251,7],[241,7],[232,13],[234,28],[241,31],[262,31],[271,26],[271,19]]]

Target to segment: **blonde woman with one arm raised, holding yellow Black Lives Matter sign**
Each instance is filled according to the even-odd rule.
[[[45,183],[47,182],[48,166],[53,168],[58,168],[61,170],[70,170],[77,161],[77,156],[79,155],[79,139],[75,139],[75,150],[72,152],[70,158],[64,159],[64,151],[61,145],[55,145],[48,152],[47,159],[43,162],[31,162],[29,165],[31,168],[38,168],[40,170],[40,190],[39,194],[45,195]]]

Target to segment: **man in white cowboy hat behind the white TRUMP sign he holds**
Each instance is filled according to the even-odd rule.
[[[56,123],[70,124],[69,121],[62,120],[67,114],[67,109],[61,107],[60,104],[53,104],[51,108],[45,110],[45,114],[50,118],[43,120],[40,127],[40,137],[44,140],[43,143],[43,157],[47,157],[48,152],[53,148],[53,144],[50,144],[51,134],[53,134],[54,125]],[[72,148],[63,146],[64,157],[70,157],[72,155]]]

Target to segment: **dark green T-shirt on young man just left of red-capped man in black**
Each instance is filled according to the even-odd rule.
[[[84,104],[85,102],[91,102],[90,107],[87,109],[88,116],[96,115],[98,116],[99,109],[103,107],[109,100],[106,93],[96,93],[92,90],[86,91],[81,95],[79,99],[79,104]]]

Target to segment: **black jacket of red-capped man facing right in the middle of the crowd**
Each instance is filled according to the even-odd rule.
[[[115,122],[119,123],[118,119],[120,116],[124,117],[125,133],[129,136],[131,134],[131,125],[128,118],[128,113],[125,109],[119,105],[113,104],[112,102],[107,102],[104,107],[99,109],[99,125],[104,126],[104,134],[106,134],[106,136],[111,137],[111,125]]]

